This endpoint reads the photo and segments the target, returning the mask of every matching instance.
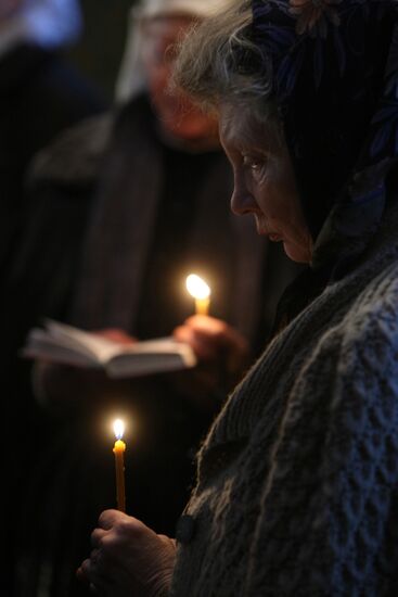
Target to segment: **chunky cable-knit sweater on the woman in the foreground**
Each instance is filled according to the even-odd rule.
[[[216,419],[172,597],[398,595],[398,209],[385,219]]]

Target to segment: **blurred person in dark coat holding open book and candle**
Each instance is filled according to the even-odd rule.
[[[35,366],[44,414],[41,433],[38,424],[27,432],[36,448],[17,534],[21,590],[36,586],[42,570],[51,595],[84,590],[73,575],[88,530],[115,501],[108,430],[116,414],[132,427],[127,508],[174,531],[203,432],[266,342],[277,298],[297,272],[281,247],[256,239],[251,223],[229,213],[232,177],[215,118],[166,89],[172,43],[211,4],[143,4],[134,24],[146,77],[140,85],[129,80],[132,97],[112,113],[42,151],[30,172],[36,218],[27,212],[8,287],[17,314],[8,333],[14,353],[44,316],[130,342],[179,333],[193,314],[183,288],[191,271],[207,279],[213,297],[210,317],[190,318],[201,360],[193,371],[116,383],[100,373]],[[142,68],[130,65],[130,77],[137,73],[142,77]],[[14,359],[14,366],[27,369],[14,378],[30,382],[29,363]],[[30,395],[25,389],[21,396]]]

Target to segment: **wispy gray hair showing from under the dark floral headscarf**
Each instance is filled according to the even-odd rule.
[[[251,38],[251,2],[234,0],[229,10],[194,26],[180,46],[174,85],[204,110],[228,104],[259,122],[278,120],[270,67]]]

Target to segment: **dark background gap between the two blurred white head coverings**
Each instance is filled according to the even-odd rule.
[[[107,100],[112,100],[117,72],[125,48],[128,13],[132,0],[81,0],[84,30],[66,52]]]

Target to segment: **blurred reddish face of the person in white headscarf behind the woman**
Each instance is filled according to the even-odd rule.
[[[217,122],[204,114],[189,98],[169,82],[176,59],[176,46],[192,26],[188,16],[150,18],[142,24],[143,64],[152,104],[170,135],[184,140],[217,138]]]

